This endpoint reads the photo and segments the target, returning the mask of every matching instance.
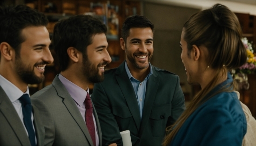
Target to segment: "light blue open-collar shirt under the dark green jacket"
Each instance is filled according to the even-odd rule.
[[[137,79],[135,79],[132,76],[132,74],[129,71],[129,68],[127,66],[127,62],[126,61],[125,61],[125,70],[126,70],[126,73],[127,73],[128,77],[129,77],[132,85],[133,85],[135,94],[137,96],[138,105],[139,105],[139,108],[140,108],[140,114],[141,114],[141,117],[142,117],[142,112],[143,112],[143,107],[144,107],[144,100],[145,100],[145,93],[146,93],[146,86],[147,86],[147,80],[148,80],[149,76],[151,74],[153,74],[152,66],[149,63],[149,73],[148,73],[148,76],[142,82],[137,80]]]

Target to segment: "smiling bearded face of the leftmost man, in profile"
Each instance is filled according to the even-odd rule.
[[[21,35],[25,41],[15,54],[15,71],[25,83],[38,84],[44,80],[45,66],[54,61],[49,33],[46,27],[26,27]]]

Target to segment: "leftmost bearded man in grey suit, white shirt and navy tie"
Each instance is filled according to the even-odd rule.
[[[44,80],[44,68],[53,62],[47,23],[30,7],[0,7],[1,146],[50,145],[44,138],[54,137],[50,113],[39,100],[30,100],[28,90],[28,84]]]

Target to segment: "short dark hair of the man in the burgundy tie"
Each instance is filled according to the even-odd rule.
[[[97,33],[107,33],[105,24],[90,15],[75,15],[60,20],[54,26],[52,47],[58,56],[61,71],[67,69],[68,47],[74,47],[87,55],[87,46],[92,44],[92,37]]]

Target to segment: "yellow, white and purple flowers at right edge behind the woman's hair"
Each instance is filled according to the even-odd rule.
[[[243,45],[246,48],[247,51],[247,62],[243,65],[240,66],[237,70],[236,73],[245,73],[245,74],[250,74],[254,73],[256,70],[256,56],[254,56],[254,51],[252,48],[252,44],[248,42],[247,38],[242,38]]]

